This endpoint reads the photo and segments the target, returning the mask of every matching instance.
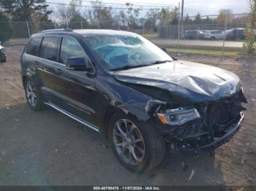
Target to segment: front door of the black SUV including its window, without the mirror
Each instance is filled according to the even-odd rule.
[[[80,43],[76,39],[63,36],[59,48],[59,63],[56,65],[58,99],[53,104],[94,125],[97,95],[94,90],[94,77],[89,77],[85,71],[66,69],[67,59],[71,57],[84,58],[88,62]]]

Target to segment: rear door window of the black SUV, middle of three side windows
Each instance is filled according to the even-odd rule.
[[[44,37],[40,47],[40,57],[50,61],[56,61],[56,47],[59,37]]]

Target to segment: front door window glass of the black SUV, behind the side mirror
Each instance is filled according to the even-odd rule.
[[[63,37],[61,41],[60,63],[67,64],[70,57],[85,58],[86,53],[75,39]]]

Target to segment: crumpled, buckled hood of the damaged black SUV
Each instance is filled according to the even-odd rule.
[[[113,77],[154,97],[159,89],[190,102],[216,101],[241,90],[240,79],[230,71],[188,61],[173,61],[124,71]],[[151,88],[153,87],[153,88]],[[165,93],[166,94],[166,93]],[[171,98],[170,98],[171,99]],[[160,98],[161,100],[161,98]]]

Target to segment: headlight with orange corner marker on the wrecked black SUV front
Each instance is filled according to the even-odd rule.
[[[186,122],[200,118],[197,109],[170,109],[166,113],[157,113],[159,120],[165,125],[184,125]]]

